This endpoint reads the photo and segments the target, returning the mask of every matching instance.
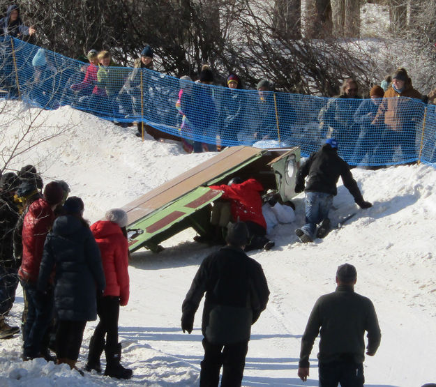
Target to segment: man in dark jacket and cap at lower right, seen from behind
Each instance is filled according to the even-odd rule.
[[[363,387],[363,360],[374,356],[381,334],[374,305],[369,298],[354,293],[356,268],[343,264],[336,272],[336,291],[318,298],[301,338],[298,375],[302,381],[309,376],[309,356],[313,342],[320,333],[318,372],[320,387]],[[321,330],[320,330],[321,328]]]

